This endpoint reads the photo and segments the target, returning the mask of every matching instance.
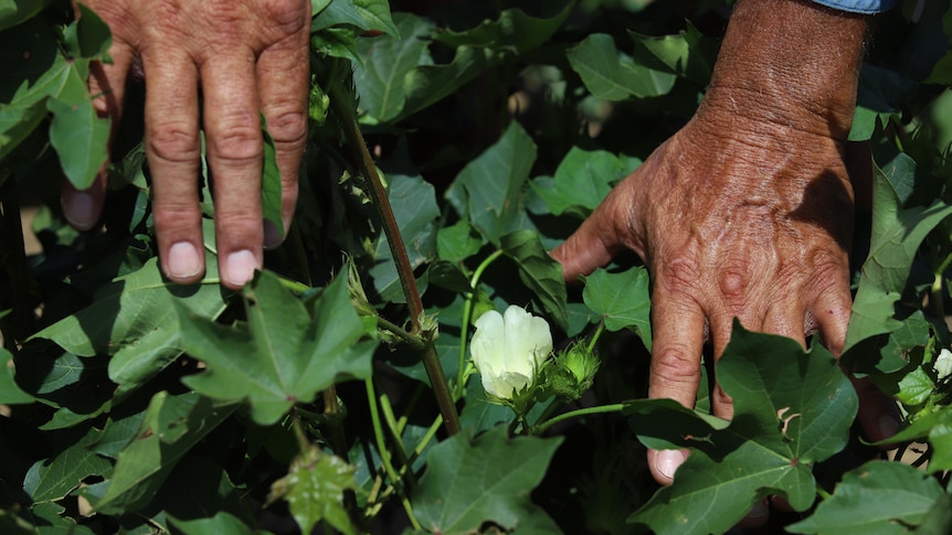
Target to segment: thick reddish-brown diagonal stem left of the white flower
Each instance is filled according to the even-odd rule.
[[[377,213],[383,225],[387,243],[390,245],[393,261],[396,264],[400,286],[403,289],[403,296],[406,298],[406,306],[410,308],[410,321],[413,324],[413,329],[410,332],[419,334],[420,320],[423,317],[424,309],[423,301],[420,299],[420,291],[416,288],[416,279],[413,278],[413,267],[410,265],[410,258],[406,256],[406,246],[403,244],[400,226],[396,224],[396,217],[394,217],[393,208],[390,206],[387,189],[383,188],[383,183],[377,174],[377,167],[373,164],[370,151],[367,150],[367,142],[360,132],[360,125],[358,125],[353,111],[348,107],[348,99],[343,95],[340,84],[341,81],[339,78],[330,84],[328,90],[330,106],[337,116],[340,127],[343,129],[348,145],[353,149],[360,172],[368,184],[368,194],[373,201],[373,206],[377,208]],[[456,413],[453,396],[446,384],[446,374],[443,372],[443,365],[440,364],[440,356],[436,354],[433,342],[430,340],[426,341],[426,349],[423,351],[423,366],[426,368],[430,385],[433,387],[433,394],[436,396],[436,404],[440,406],[440,413],[443,415],[443,420],[446,424],[446,432],[449,436],[456,435],[461,429],[459,415]]]

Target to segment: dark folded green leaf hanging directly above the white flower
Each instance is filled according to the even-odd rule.
[[[506,256],[519,266],[519,279],[563,330],[569,329],[568,291],[562,265],[549,256],[536,231],[517,231],[499,240]]]

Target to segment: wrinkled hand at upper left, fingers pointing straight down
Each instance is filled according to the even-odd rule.
[[[113,31],[112,65],[89,77],[97,111],[114,126],[126,78],[141,62],[146,79],[146,154],[165,274],[180,283],[204,274],[198,201],[200,135],[207,136],[214,175],[219,271],[229,288],[262,266],[262,247],[281,242],[264,224],[261,174],[264,146],[260,114],[274,137],[285,228],[297,201],[297,173],[307,128],[307,0],[86,0]],[[200,90],[201,89],[201,90]],[[199,97],[201,93],[201,98]],[[201,109],[200,109],[201,106]],[[70,222],[94,226],[105,172],[89,190],[68,184],[62,203]],[[267,227],[267,228],[266,228]]]

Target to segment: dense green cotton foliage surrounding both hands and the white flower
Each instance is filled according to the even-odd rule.
[[[768,495],[793,533],[952,529],[949,1],[880,18],[850,133],[876,165],[842,363],[900,402],[893,457],[921,470],[861,440],[818,341],[738,325],[717,364],[731,422],[706,413],[706,383],[697,410],[644,399],[647,271],[622,257],[567,288],[547,254],[691,116],[726,2],[311,3],[298,213],[230,292],[207,171],[207,277],[158,269],[136,82],[102,225],[65,224],[59,178],[87,185],[107,157],[84,81],[109,32],[64,0],[0,0],[0,532],[718,533]],[[378,172],[412,274],[374,212]],[[263,175],[274,199],[273,161]],[[509,304],[557,347],[519,415],[469,361],[476,319]],[[658,489],[645,447],[694,453]]]

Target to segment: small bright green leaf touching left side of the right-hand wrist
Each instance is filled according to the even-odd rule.
[[[655,38],[635,32],[628,32],[628,35],[635,41],[636,52],[644,49],[655,61],[645,62],[645,66],[667,71],[702,85],[710,82],[718,43],[701,35],[690,21],[687,22],[687,29],[677,35]]]

